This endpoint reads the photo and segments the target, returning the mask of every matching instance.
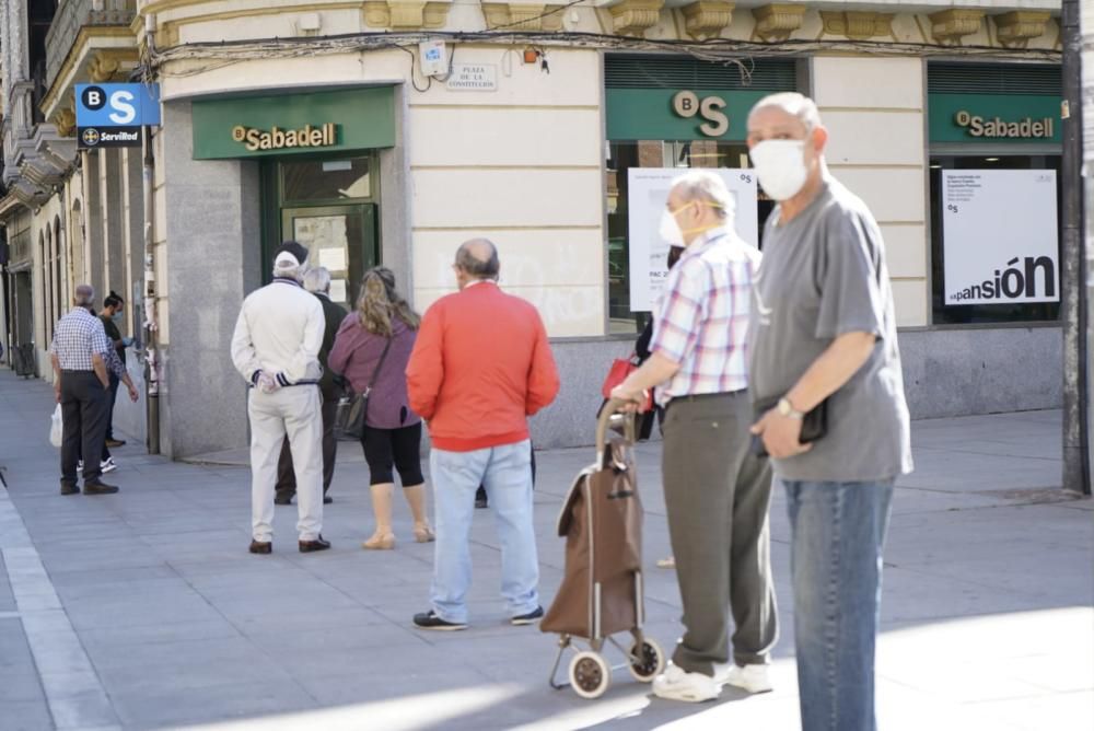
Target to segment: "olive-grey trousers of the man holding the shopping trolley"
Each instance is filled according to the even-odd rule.
[[[752,420],[745,392],[674,398],[665,414],[662,479],[684,604],[673,663],[689,673],[713,675],[731,643],[736,664],[767,662],[778,636],[771,467],[748,449]]]

